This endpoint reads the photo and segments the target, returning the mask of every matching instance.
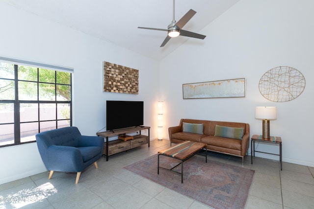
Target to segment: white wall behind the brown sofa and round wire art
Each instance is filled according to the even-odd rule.
[[[270,134],[282,137],[283,161],[314,166],[313,11],[312,0],[240,0],[199,31],[207,35],[204,41],[189,39],[164,58],[159,82],[165,127],[178,125],[180,118],[246,122],[252,136],[262,133],[255,107],[276,106],[278,116],[270,122]],[[304,92],[292,101],[272,102],[259,92],[262,75],[278,66],[295,68],[305,76]],[[242,77],[245,98],[182,98],[184,83]],[[278,146],[261,144],[259,149],[279,153]]]

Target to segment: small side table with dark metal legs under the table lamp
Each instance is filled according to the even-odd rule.
[[[279,162],[280,162],[280,169],[283,170],[283,155],[282,155],[282,140],[281,137],[270,137],[270,139],[264,139],[262,135],[253,135],[251,138],[251,164],[253,164],[253,156],[255,157],[255,152],[261,152],[261,151],[255,151],[255,142],[258,143],[272,143],[272,144],[279,144],[279,155],[269,152],[261,152],[266,153],[270,155],[278,155],[279,156]]]

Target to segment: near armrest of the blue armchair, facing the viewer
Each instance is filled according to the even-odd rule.
[[[83,157],[76,147],[51,145],[47,149],[48,170],[80,172],[83,169]]]

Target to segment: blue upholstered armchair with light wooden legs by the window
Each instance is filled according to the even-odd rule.
[[[104,139],[96,136],[82,136],[77,127],[65,127],[36,134],[40,156],[50,170],[77,172],[75,184],[85,168],[93,164],[98,168],[97,160],[103,155]]]

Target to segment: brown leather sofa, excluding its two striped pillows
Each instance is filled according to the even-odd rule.
[[[203,134],[183,132],[183,122],[203,124]],[[216,125],[243,128],[243,137],[242,139],[232,139],[214,136]],[[210,151],[241,157],[242,165],[250,144],[250,125],[248,123],[181,119],[179,126],[169,127],[168,130],[170,145],[184,140],[203,142],[207,144],[207,149]]]

